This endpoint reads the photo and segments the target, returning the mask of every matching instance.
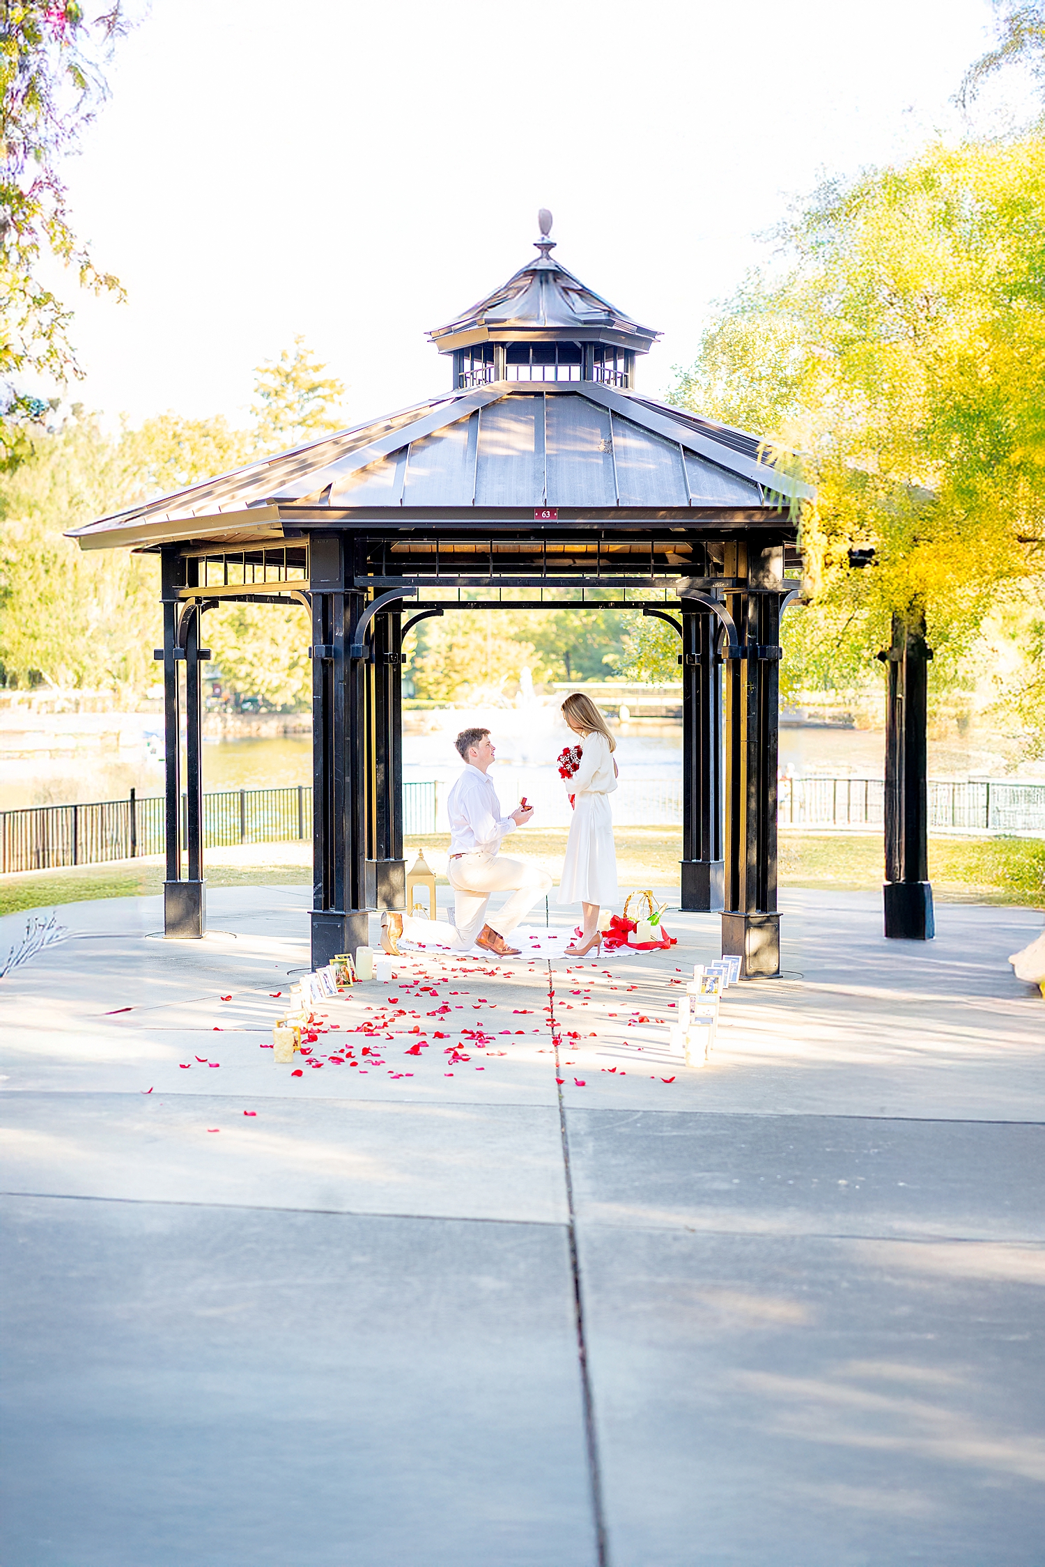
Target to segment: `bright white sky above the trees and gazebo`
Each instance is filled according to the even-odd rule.
[[[78,296],[71,400],[240,418],[295,332],[353,420],[450,384],[425,340],[536,252],[689,362],[827,172],[954,135],[987,0],[152,0],[66,166],[127,306]]]

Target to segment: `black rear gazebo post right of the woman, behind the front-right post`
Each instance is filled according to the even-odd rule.
[[[682,907],[724,907],[722,699],[710,610],[682,603]]]

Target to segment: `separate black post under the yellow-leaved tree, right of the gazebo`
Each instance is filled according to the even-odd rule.
[[[926,616],[893,614],[885,711],[885,935],[927,942],[935,935],[929,882]]]

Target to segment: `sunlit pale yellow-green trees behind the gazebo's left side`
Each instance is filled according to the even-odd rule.
[[[125,700],[152,685],[152,649],[161,641],[155,556],[81,552],[64,531],[252,461],[273,440],[271,411],[318,428],[329,415],[309,400],[309,387],[340,387],[321,371],[301,338],[276,365],[260,367],[259,401],[269,418],[248,429],[222,415],[168,412],[108,436],[78,404],[61,425],[41,426],[17,469],[0,475],[0,677],[22,686],[38,679],[100,686]],[[309,700],[304,611],[232,605],[210,611],[205,624],[232,694],[277,708]]]

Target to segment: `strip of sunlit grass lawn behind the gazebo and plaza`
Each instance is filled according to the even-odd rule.
[[[450,838],[429,834],[407,838],[407,859],[425,848],[443,876]],[[566,851],[566,827],[522,829],[511,846],[531,856],[556,879]],[[617,868],[622,890],[671,887],[678,878],[682,832],[675,827],[619,827]],[[246,843],[208,849],[210,887],[295,885],[312,879],[310,843]],[[940,903],[996,903],[1045,907],[1045,840],[932,838],[929,874]],[[782,887],[876,888],[882,885],[882,840],[855,834],[780,834]],[[163,860],[118,860],[75,870],[0,876],[0,914],[53,907],[83,898],[133,898],[163,890]]]

